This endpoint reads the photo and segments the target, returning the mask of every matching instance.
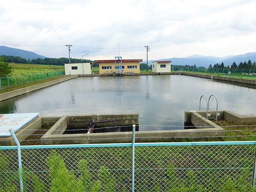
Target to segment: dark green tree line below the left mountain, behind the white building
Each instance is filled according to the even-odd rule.
[[[64,65],[69,63],[69,58],[66,57],[60,57],[60,58],[49,58],[45,57],[43,58],[36,58],[36,59],[24,59],[20,56],[5,56],[2,55],[0,57],[4,57],[4,62],[6,63],[17,63],[17,64],[46,64],[46,65]],[[70,58],[71,63],[88,63],[93,62],[92,60],[88,59],[76,59],[76,58]]]

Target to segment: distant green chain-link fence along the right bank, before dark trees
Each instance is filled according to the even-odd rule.
[[[210,74],[221,74],[224,76],[241,76],[241,77],[256,77],[256,69],[237,69],[237,68],[205,68],[205,67],[186,67],[171,65],[171,71],[190,71]]]

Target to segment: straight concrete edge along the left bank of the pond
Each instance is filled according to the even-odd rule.
[[[13,97],[16,97],[16,96],[19,96],[19,95],[22,95],[22,94],[25,94],[25,93],[28,93],[28,92],[33,92],[33,91],[36,91],[38,89],[42,89],[42,88],[45,88],[45,87],[48,87],[48,86],[51,86],[51,85],[55,85],[55,84],[70,80],[72,78],[77,78],[77,77],[78,77],[78,75],[72,75],[72,76],[69,76],[69,77],[66,77],[66,78],[60,78],[60,79],[57,79],[57,80],[53,80],[53,81],[49,81],[49,82],[46,82],[46,83],[25,87],[25,88],[22,88],[22,89],[11,91],[11,92],[1,93],[0,94],[0,101],[8,100],[8,99],[11,99]]]

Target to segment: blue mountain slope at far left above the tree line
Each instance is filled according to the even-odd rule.
[[[42,58],[42,59],[45,58],[44,56],[38,55],[31,51],[14,49],[7,46],[0,46],[0,55],[20,56],[21,58],[30,59],[30,60],[36,59],[36,58]]]

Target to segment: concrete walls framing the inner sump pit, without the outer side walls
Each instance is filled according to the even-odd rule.
[[[194,140],[198,140],[203,137],[209,136],[223,136],[224,129],[215,125],[209,120],[204,120],[202,115],[196,112],[190,112],[187,115],[193,119],[200,119],[202,123],[200,126],[210,126],[210,128],[200,129],[180,129],[180,130],[160,130],[160,131],[137,131],[135,132],[135,142],[171,142],[171,141],[182,141],[184,138],[195,137]],[[139,124],[138,114],[100,114],[100,115],[77,115],[68,116],[68,127],[69,128],[85,128],[86,122],[95,119],[95,121],[101,121],[106,119],[114,119],[116,124],[120,125],[131,125]],[[62,124],[61,121],[66,122],[66,117],[62,117],[57,123],[50,129],[54,132],[54,129],[64,130],[67,126]],[[191,120],[190,120],[191,121]],[[194,120],[192,120],[194,122]],[[107,124],[106,124],[107,125]],[[102,125],[101,125],[102,126]],[[52,133],[51,132],[51,133]],[[57,133],[57,132],[56,132]],[[60,132],[61,133],[61,132]],[[93,143],[121,143],[121,142],[132,142],[132,132],[114,132],[114,133],[90,133],[90,134],[50,134],[47,132],[41,138],[41,144],[93,144]]]

